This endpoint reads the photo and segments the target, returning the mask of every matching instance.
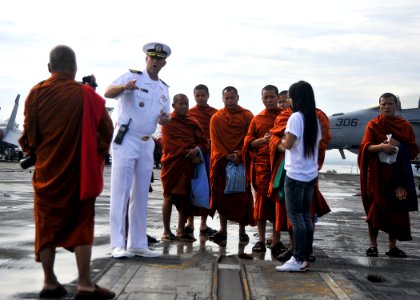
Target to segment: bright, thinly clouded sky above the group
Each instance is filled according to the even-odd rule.
[[[265,85],[283,90],[298,80],[312,85],[327,115],[375,105],[384,92],[401,96],[403,107],[420,96],[418,0],[7,1],[0,41],[0,121],[20,94],[20,124],[58,44],[75,50],[76,80],[94,74],[101,95],[129,68],[144,70],[142,47],[155,41],[172,49],[161,79],[190,106],[200,83],[216,108],[222,89],[235,86],[254,114]]]

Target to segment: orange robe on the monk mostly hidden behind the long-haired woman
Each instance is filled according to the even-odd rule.
[[[279,152],[277,150],[277,145],[280,143],[281,139],[284,135],[284,130],[286,129],[287,120],[289,119],[290,115],[293,113],[292,109],[288,108],[283,110],[280,115],[274,121],[274,127],[270,131],[272,134],[270,138],[270,165],[271,165],[271,180],[268,195],[273,197],[277,197],[277,190],[273,190],[273,182],[277,174],[277,170],[280,166],[282,160],[284,160],[284,152]],[[330,132],[330,122],[327,115],[321,111],[320,109],[316,109],[316,115],[319,119],[321,124],[321,140],[318,146],[318,169],[322,168],[325,158],[325,152],[327,151],[328,143],[331,140],[331,132]],[[321,217],[331,210],[325,201],[324,196],[321,194],[318,184],[315,186],[314,196],[312,201],[312,211],[313,215],[316,213],[318,217]],[[288,231],[292,229],[292,225],[287,220],[287,212],[286,212],[286,202],[285,201],[276,201],[276,230],[277,231]]]

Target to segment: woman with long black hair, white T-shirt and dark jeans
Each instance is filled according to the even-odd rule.
[[[312,86],[299,81],[289,88],[293,114],[287,121],[281,146],[285,149],[284,184],[287,216],[293,225],[293,256],[277,271],[306,271],[312,253],[311,202],[318,178],[318,144],[321,129]]]

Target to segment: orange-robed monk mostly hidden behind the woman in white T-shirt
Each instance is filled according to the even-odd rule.
[[[290,105],[290,100],[288,101]],[[287,121],[291,114],[293,113],[292,109],[289,107],[284,109],[280,115],[276,118],[274,122],[274,127],[270,131],[271,138],[270,138],[270,164],[271,164],[271,181],[269,186],[268,195],[273,197],[272,194],[274,193],[274,197],[277,197],[276,201],[276,232],[281,231],[288,231],[289,238],[290,238],[290,245],[288,250],[282,252],[283,243],[279,240],[276,240],[276,237],[279,236],[277,234],[273,235],[273,245],[271,247],[271,251],[273,256],[277,258],[279,261],[288,261],[293,255],[294,249],[294,238],[293,238],[293,227],[287,219],[287,212],[286,212],[286,204],[284,199],[281,201],[278,197],[279,188],[273,188],[275,186],[275,179],[277,172],[279,172],[279,167],[281,166],[282,161],[284,161],[284,151],[279,149],[279,145],[281,140],[284,136],[284,130],[286,129]],[[319,142],[318,146],[318,169],[322,168],[325,159],[325,152],[327,150],[327,146],[329,141],[331,140],[331,132],[330,132],[330,123],[327,115],[320,109],[316,109],[316,115],[318,120],[321,124],[321,141]],[[281,190],[281,188],[280,188]],[[325,201],[323,195],[319,191],[318,184],[315,187],[314,192],[314,201],[313,204],[313,217],[315,213],[318,217],[325,215],[326,213],[330,212],[330,208]],[[313,256],[310,257],[311,260],[314,259]]]

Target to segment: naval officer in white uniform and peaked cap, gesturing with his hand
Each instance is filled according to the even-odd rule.
[[[162,43],[148,43],[143,51],[146,69],[129,70],[105,92],[105,97],[118,100],[118,124],[112,143],[110,208],[114,258],[159,256],[159,252],[150,250],[147,244],[147,199],[153,170],[152,134],[157,123],[166,125],[170,121],[168,86],[159,79],[159,72],[166,65],[171,49]]]

